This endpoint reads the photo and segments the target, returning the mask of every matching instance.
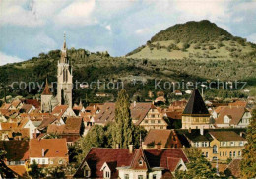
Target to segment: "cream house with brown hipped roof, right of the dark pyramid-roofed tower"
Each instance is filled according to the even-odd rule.
[[[250,123],[251,113],[243,106],[224,106],[215,120],[220,128],[246,128]]]

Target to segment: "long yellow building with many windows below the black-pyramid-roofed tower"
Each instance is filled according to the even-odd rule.
[[[247,143],[243,129],[192,129],[176,130],[187,138],[190,146],[198,148],[209,161],[226,161],[228,158],[241,158],[242,149]]]

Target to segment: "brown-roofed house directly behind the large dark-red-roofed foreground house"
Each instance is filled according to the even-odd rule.
[[[183,145],[174,130],[151,129],[143,142],[143,149],[182,148]]]

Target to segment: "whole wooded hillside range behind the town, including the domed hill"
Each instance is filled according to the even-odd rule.
[[[111,57],[107,52],[92,53],[85,49],[69,49],[68,55],[73,68],[74,83],[76,81],[91,83],[98,80],[103,83],[122,81],[130,96],[136,97],[138,101],[149,99],[150,90],[161,90],[155,88],[156,79],[162,79],[162,83],[245,81],[248,82],[247,88],[251,90],[250,94],[256,94],[255,44],[239,37],[233,37],[227,31],[208,21],[189,22],[173,27],[160,31],[146,45],[126,57]],[[203,35],[202,39],[199,34],[194,34],[200,27],[204,29],[200,33]],[[183,30],[183,36],[175,35],[174,29],[178,30],[178,28]],[[208,30],[211,32],[207,32]],[[8,85],[12,85],[13,82],[42,84],[46,77],[49,82],[55,82],[59,59],[60,50],[52,50],[48,53],[40,53],[37,57],[25,62],[0,66],[0,85],[7,86],[8,95],[39,97],[41,91],[38,88],[32,91],[28,88],[15,90]],[[138,83],[133,84],[134,80]],[[173,96],[172,89],[162,90],[171,99],[176,97]],[[97,92],[108,93],[109,97],[96,97]],[[209,98],[247,95],[235,90],[207,90],[205,92]],[[103,102],[114,100],[116,94],[117,89],[75,89],[73,96],[74,102],[80,99],[84,102]],[[4,90],[0,88],[0,98],[3,96]]]

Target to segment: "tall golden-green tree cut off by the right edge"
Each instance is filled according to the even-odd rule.
[[[256,177],[256,109],[252,111],[252,118],[247,129],[247,144],[242,151],[241,174],[244,178]]]

